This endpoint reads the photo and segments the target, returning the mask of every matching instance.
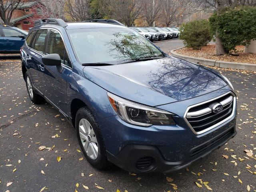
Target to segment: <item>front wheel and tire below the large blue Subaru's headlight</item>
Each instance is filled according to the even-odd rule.
[[[88,107],[82,107],[76,113],[76,133],[87,161],[99,170],[108,168],[109,162],[103,137]]]

